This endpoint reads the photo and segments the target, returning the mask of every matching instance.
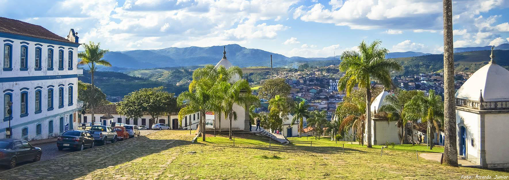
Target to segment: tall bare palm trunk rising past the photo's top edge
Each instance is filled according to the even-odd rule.
[[[443,0],[444,26],[444,154],[443,163],[458,166],[454,100],[453,2]]]

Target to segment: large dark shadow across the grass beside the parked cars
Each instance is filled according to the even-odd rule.
[[[139,136],[96,146],[51,160],[26,164],[20,168],[0,173],[0,176],[2,176],[2,179],[74,179],[98,169],[112,168],[112,166],[130,162],[137,158],[188,144],[191,144],[191,141],[149,139],[145,136]]]

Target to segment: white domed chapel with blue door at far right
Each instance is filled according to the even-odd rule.
[[[456,92],[458,155],[483,168],[509,167],[509,71],[494,61]]]

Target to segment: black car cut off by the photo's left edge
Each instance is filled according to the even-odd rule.
[[[41,160],[42,149],[32,146],[21,139],[0,139],[0,165],[8,169],[16,167],[19,162]]]

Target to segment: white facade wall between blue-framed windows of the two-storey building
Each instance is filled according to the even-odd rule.
[[[7,41],[4,41],[7,40]],[[11,40],[13,42],[9,42]],[[2,91],[2,120],[0,120],[0,138],[6,137],[5,130],[9,127],[9,121],[3,121],[4,117],[4,95],[7,93],[12,94],[12,119],[11,127],[13,128],[12,138],[24,138],[27,140],[39,140],[57,136],[60,131],[60,117],[63,117],[64,123],[69,123],[69,129],[76,128],[76,115],[74,114],[77,109],[77,47],[48,44],[34,41],[18,40],[13,38],[0,37],[0,59],[2,65],[0,67],[0,91]],[[23,42],[23,43],[22,43]],[[5,71],[4,67],[4,45],[12,45],[12,70]],[[28,44],[26,44],[28,43]],[[40,44],[40,45],[36,45]],[[27,47],[27,70],[20,70],[20,49],[21,46]],[[48,47],[48,45],[54,47]],[[41,70],[35,70],[35,48],[41,48]],[[53,49],[53,70],[47,69],[47,49]],[[59,70],[59,50],[63,50],[63,70]],[[73,69],[69,70],[68,65],[68,52],[72,51],[72,64]],[[62,85],[61,85],[62,84]],[[60,85],[60,86],[59,86]],[[68,87],[72,86],[72,105],[68,102]],[[64,88],[64,103],[63,107],[59,108],[59,87]],[[48,110],[47,96],[48,89],[53,88],[53,110]],[[35,113],[35,92],[41,91],[41,112]],[[27,92],[27,116],[20,116],[21,93]],[[70,115],[72,115],[72,120]],[[49,122],[53,121],[53,132],[49,132]],[[37,125],[41,125],[41,133],[37,134]],[[22,129],[27,128],[27,136],[22,136]]]

